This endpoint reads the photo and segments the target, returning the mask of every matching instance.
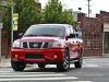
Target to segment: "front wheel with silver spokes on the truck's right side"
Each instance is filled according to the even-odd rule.
[[[68,50],[64,52],[64,60],[57,63],[57,68],[59,71],[68,71],[70,68],[70,55]]]

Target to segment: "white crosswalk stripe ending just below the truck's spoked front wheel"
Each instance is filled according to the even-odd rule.
[[[19,75],[1,75],[0,74],[0,78],[32,78],[32,77],[55,77],[55,75],[65,75],[65,74],[19,74]]]

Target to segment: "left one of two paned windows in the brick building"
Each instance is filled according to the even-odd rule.
[[[85,49],[92,49],[92,34],[85,34]]]

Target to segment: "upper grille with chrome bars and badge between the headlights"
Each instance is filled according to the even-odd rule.
[[[47,42],[45,42],[45,43],[23,42],[23,48],[26,48],[26,49],[46,49],[46,48],[50,48],[50,44]]]

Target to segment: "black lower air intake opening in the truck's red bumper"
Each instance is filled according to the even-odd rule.
[[[44,59],[43,54],[26,54],[25,59]]]

